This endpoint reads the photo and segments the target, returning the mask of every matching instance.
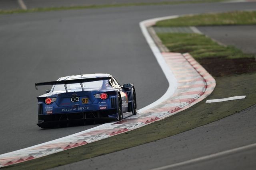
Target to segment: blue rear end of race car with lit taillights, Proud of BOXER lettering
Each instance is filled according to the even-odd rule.
[[[105,83],[97,90],[50,92],[38,97],[39,127],[91,120],[118,120],[117,91]]]

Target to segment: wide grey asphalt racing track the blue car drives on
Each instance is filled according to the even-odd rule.
[[[35,124],[35,97],[46,89],[36,91],[35,82],[79,74],[81,68],[83,73],[110,73],[121,84],[133,83],[139,108],[160,98],[168,84],[140,31],[140,21],[255,8],[255,3],[190,4],[0,16],[0,154],[95,126],[41,130]],[[119,64],[112,66],[113,61]]]

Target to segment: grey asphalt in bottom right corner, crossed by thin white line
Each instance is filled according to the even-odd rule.
[[[256,105],[208,125],[52,170],[148,170],[256,143]],[[255,170],[256,147],[175,170]]]

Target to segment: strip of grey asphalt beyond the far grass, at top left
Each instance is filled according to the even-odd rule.
[[[156,2],[182,2],[187,0],[23,0],[28,8],[47,8],[62,6],[87,6],[104,4],[132,4],[132,3],[156,3]],[[196,1],[196,0],[190,0]],[[207,0],[206,0],[207,1]],[[18,0],[0,0],[0,10],[21,9]]]

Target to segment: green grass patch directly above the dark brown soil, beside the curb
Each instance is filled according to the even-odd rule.
[[[253,58],[232,46],[219,45],[197,33],[158,33],[162,43],[172,52],[190,53],[195,59],[225,57],[228,59]]]

